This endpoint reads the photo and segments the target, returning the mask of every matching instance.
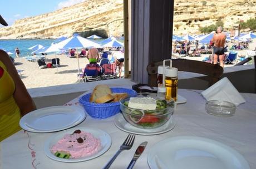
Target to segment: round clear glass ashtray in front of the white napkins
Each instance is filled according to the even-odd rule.
[[[205,110],[215,116],[233,116],[235,114],[235,106],[229,101],[210,100],[205,104]]]

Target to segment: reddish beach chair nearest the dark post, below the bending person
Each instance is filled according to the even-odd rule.
[[[102,68],[102,75],[101,79],[116,79],[116,64],[115,63],[109,63],[104,64],[101,66]]]

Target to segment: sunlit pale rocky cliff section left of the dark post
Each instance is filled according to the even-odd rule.
[[[88,0],[55,12],[19,19],[11,27],[1,28],[0,38],[56,38],[95,30],[105,30],[105,35],[123,34],[122,0]]]

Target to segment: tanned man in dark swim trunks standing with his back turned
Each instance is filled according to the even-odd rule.
[[[213,39],[211,39],[211,42],[213,42],[213,64],[217,64],[219,58],[220,66],[224,68],[224,47],[226,35],[222,33],[222,30],[222,27],[217,28],[217,32],[213,35]]]

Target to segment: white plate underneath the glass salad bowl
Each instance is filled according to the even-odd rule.
[[[119,128],[120,130],[137,135],[158,135],[170,131],[175,126],[173,116],[170,117],[170,120],[166,122],[166,124],[157,127],[156,129],[140,129],[135,126],[132,126],[131,124],[129,124],[129,122],[125,120],[124,116],[122,116],[121,113],[116,115],[114,122],[116,127]]]

